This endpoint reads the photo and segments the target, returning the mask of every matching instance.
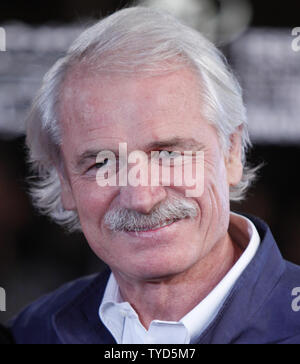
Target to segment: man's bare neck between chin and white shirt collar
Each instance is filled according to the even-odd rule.
[[[206,257],[175,276],[133,281],[119,272],[114,275],[123,300],[131,304],[148,330],[153,320],[182,319],[214,289],[241,254],[241,248],[227,234]]]

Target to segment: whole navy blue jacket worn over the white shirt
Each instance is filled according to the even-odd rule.
[[[199,344],[300,343],[300,311],[292,309],[300,267],[282,258],[264,222],[250,218],[261,246]],[[31,304],[12,323],[16,342],[115,344],[98,316],[109,274],[69,283]]]

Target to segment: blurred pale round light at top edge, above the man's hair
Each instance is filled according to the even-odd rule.
[[[239,37],[253,14],[249,0],[140,0],[140,4],[167,10],[218,45]]]

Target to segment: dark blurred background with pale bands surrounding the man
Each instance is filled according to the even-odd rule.
[[[83,236],[66,235],[32,207],[24,118],[44,73],[77,35],[96,19],[137,4],[173,12],[228,57],[244,88],[253,141],[249,160],[264,163],[248,199],[232,209],[267,221],[284,257],[300,264],[299,1],[2,1],[0,287],[7,312],[0,312],[0,322],[66,281],[103,269]]]

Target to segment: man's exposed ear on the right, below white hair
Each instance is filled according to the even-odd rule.
[[[231,135],[230,140],[231,147],[225,160],[227,181],[229,186],[236,186],[243,176],[242,137],[240,128]]]

